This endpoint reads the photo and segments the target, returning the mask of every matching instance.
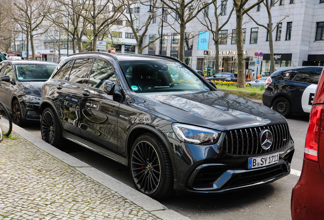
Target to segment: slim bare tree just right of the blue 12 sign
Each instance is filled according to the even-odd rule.
[[[215,22],[213,22],[209,16],[204,16],[204,19],[201,20],[198,18],[200,23],[206,27],[206,29],[212,34],[212,40],[215,42],[215,74],[219,72],[219,44],[224,39],[223,37],[220,37],[219,32],[224,28],[224,26],[228,23],[229,19],[232,16],[232,13],[234,11],[234,6],[232,7],[231,12],[228,15],[228,18],[226,21],[224,21],[221,25],[219,23],[219,17],[224,14],[226,8],[227,8],[228,0],[226,0],[224,7],[220,10],[220,13],[217,13],[220,6],[217,6],[217,1],[213,2],[214,6],[214,19]],[[225,38],[228,37],[228,34],[225,36]]]

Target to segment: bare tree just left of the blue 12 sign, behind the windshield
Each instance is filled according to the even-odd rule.
[[[184,42],[185,42],[185,29],[186,24],[192,21],[197,15],[204,10],[204,13],[208,13],[208,8],[213,2],[217,0],[211,0],[209,3],[204,3],[197,0],[161,0],[164,7],[169,11],[175,13],[175,22],[179,24],[179,60],[184,62]],[[170,13],[171,15],[171,13]],[[172,15],[171,15],[172,16]],[[207,15],[208,16],[208,15]],[[174,25],[171,27],[174,28]],[[174,28],[176,30],[176,28]]]

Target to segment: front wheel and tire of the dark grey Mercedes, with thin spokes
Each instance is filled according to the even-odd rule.
[[[141,193],[156,200],[174,196],[171,159],[155,134],[145,133],[136,139],[130,151],[129,168]]]

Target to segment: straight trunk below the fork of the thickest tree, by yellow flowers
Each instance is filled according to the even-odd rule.
[[[243,48],[242,10],[236,10],[236,47],[237,47],[237,84],[238,88],[246,88],[245,82],[245,59]]]

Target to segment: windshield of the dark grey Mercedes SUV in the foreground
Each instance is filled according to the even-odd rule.
[[[210,91],[206,82],[180,63],[171,61],[120,61],[136,93]]]

